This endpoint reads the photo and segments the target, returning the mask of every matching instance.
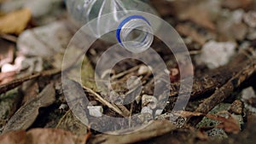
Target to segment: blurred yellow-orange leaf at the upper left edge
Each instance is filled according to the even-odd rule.
[[[20,34],[31,20],[29,9],[21,9],[0,17],[0,32]]]

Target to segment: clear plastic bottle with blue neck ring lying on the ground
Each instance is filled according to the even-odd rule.
[[[118,41],[125,49],[135,53],[148,49],[153,43],[154,35],[150,24],[152,21],[143,15],[130,14],[130,10],[137,10],[157,15],[147,3],[139,0],[66,0],[66,3],[69,14],[80,25],[98,18],[96,25],[90,26],[95,37],[115,26],[117,31],[103,37],[103,40]],[[108,20],[101,20],[101,15],[109,13],[112,16]],[[131,43],[124,43],[128,41]]]

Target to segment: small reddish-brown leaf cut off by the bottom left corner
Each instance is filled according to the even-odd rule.
[[[0,144],[26,144],[26,132],[24,130],[11,131],[0,135]]]

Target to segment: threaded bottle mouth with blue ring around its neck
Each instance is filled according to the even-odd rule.
[[[133,53],[150,48],[154,40],[153,29],[142,15],[131,15],[123,20],[116,35],[119,43]]]

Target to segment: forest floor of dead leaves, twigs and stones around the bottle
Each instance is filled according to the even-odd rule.
[[[164,69],[79,49],[62,0],[0,0],[0,143],[254,143],[256,0],[148,3],[183,40],[154,37]]]

